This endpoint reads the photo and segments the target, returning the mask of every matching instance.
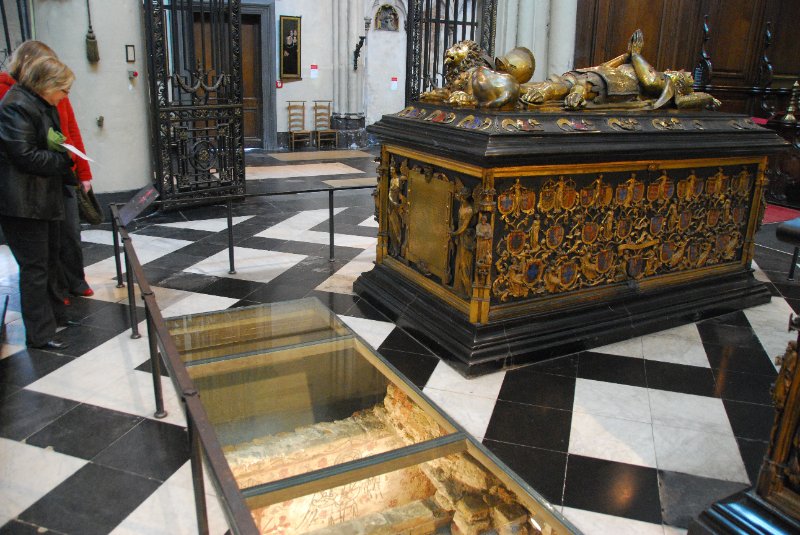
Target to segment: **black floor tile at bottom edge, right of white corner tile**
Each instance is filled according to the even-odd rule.
[[[152,479],[88,463],[23,511],[19,519],[63,533],[105,535],[158,486]]]

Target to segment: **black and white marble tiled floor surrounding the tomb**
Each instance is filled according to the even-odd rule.
[[[345,163],[352,173],[253,188],[374,176],[371,157]],[[257,163],[281,166],[281,176],[302,164]],[[786,325],[800,304],[774,225],[756,248],[769,304],[466,380],[352,294],[375,256],[374,204],[369,190],[335,200],[334,262],[327,195],[236,205],[235,275],[223,207],[138,220],[133,242],[164,316],[318,297],[585,533],[683,533],[709,503],[753,484],[772,425],[772,359],[794,338]],[[0,352],[0,534],[195,533],[179,400],[165,382],[169,416],[153,417],[147,340],[130,338],[111,233],[93,227],[83,239],[96,293],[74,300],[81,325],[60,333],[70,343],[61,352],[24,347],[17,268],[0,246],[0,293],[11,296]],[[221,534],[206,490],[211,533]]]

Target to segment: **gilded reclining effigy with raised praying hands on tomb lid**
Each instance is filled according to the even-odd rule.
[[[526,84],[520,97],[526,104],[544,104],[563,99],[567,109],[583,107],[630,107],[658,109],[718,108],[720,101],[708,93],[695,92],[692,76],[685,71],[655,70],[642,55],[644,34],[633,32],[628,51],[596,67],[575,69],[544,82]]]

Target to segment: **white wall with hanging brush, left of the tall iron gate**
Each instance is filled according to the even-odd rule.
[[[35,0],[36,38],[47,43],[75,72],[69,98],[92,164],[98,193],[139,189],[152,181],[148,123],[146,50],[141,2],[92,0],[92,27],[100,61],[86,59],[85,0]],[[125,62],[125,45],[136,62]],[[132,84],[128,70],[139,72]],[[97,126],[98,116],[105,118]]]

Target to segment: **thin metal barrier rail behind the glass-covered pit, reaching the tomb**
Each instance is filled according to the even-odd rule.
[[[266,192],[266,193],[245,193],[241,195],[226,195],[223,197],[219,197],[219,200],[225,201],[227,206],[227,217],[228,217],[228,265],[229,270],[228,273],[233,275],[236,273],[236,266],[234,262],[234,255],[233,255],[233,201],[237,200],[244,200],[253,197],[273,197],[279,195],[297,195],[300,193],[319,193],[323,191],[328,192],[328,236],[329,236],[329,258],[328,260],[333,262],[334,261],[334,253],[333,253],[333,193],[334,191],[345,191],[345,190],[357,190],[357,189],[368,189],[368,188],[375,188],[375,185],[369,186],[344,186],[341,188],[312,188],[312,189],[304,189],[304,190],[291,190],[291,191],[280,191],[280,192]],[[184,199],[186,202],[191,202],[193,199]],[[194,199],[197,202],[208,201],[206,198],[197,198]],[[153,204],[169,204],[170,201],[155,201]],[[109,205],[112,209],[112,215],[116,213],[116,216],[112,216],[111,218],[111,233],[114,241],[114,264],[117,270],[117,288],[124,288],[125,283],[122,280],[122,262],[120,260],[120,249],[119,249],[119,234],[120,234],[120,227],[121,221],[119,218],[119,204],[111,204]],[[114,212],[114,210],[117,210]],[[125,268],[127,272],[130,272],[130,268],[127,265],[127,260],[125,264]],[[141,334],[139,334],[139,319],[137,317],[136,312],[136,303],[133,299],[133,293],[131,289],[131,283],[128,282],[128,315],[130,318],[131,323],[131,338],[141,338]]]

